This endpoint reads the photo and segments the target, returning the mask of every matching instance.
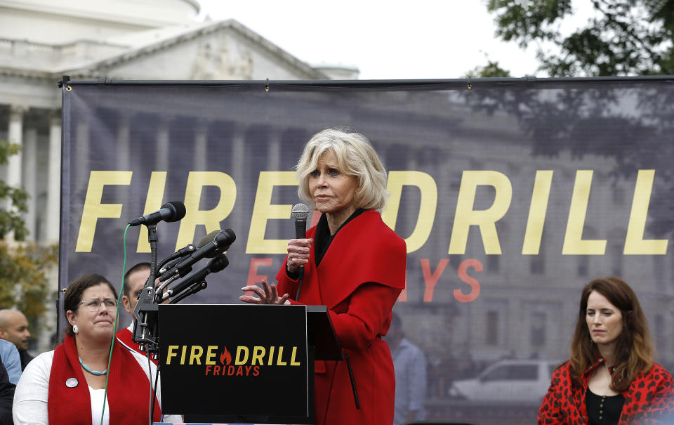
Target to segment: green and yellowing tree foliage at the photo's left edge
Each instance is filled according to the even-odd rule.
[[[19,152],[20,146],[0,140],[0,164]],[[41,330],[41,318],[46,310],[49,282],[45,270],[58,261],[58,245],[39,247],[34,242],[4,240],[13,233],[22,241],[28,230],[20,214],[28,211],[28,194],[0,180],[0,202],[8,208],[0,210],[0,308],[17,308],[32,324],[32,334]]]

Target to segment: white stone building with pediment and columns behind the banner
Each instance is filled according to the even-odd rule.
[[[198,15],[196,0],[0,0],[0,140],[22,146],[20,155],[0,166],[0,178],[30,195],[29,240],[58,242],[61,92],[56,84],[62,75],[357,78],[354,68],[312,67],[236,20],[199,22]],[[57,275],[55,270],[51,275],[54,290]],[[39,345],[46,347],[48,335],[42,336]]]

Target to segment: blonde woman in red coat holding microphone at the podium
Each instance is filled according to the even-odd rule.
[[[364,136],[327,129],[305,145],[297,176],[300,197],[322,213],[319,223],[305,239],[289,240],[278,285],[263,280],[262,288],[246,286],[257,296],[241,299],[327,306],[350,358],[360,408],[345,362],[316,362],[315,423],[390,425],[395,374],[381,337],[404,289],[407,249],[381,220],[386,171]],[[303,283],[295,300],[300,266]]]

